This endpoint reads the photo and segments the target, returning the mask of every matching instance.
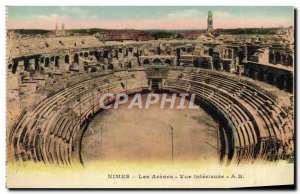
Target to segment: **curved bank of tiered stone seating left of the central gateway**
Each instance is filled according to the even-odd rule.
[[[136,72],[130,72],[130,76],[126,77],[128,88],[145,88],[145,72]],[[76,149],[74,144],[78,145],[82,125],[97,111],[94,109],[98,102],[91,104],[93,92],[124,92],[126,88],[120,84],[124,79],[124,76],[120,78],[112,73],[94,76],[94,79],[84,76],[82,82],[54,93],[39,103],[15,125],[11,138],[15,158],[58,165],[71,164],[72,153]],[[109,84],[105,80],[109,80]]]

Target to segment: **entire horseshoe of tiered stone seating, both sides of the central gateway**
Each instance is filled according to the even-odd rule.
[[[68,78],[62,89],[21,114],[9,138],[15,158],[72,164],[78,160],[85,125],[99,111],[99,97],[106,92],[131,93],[148,87],[144,69]],[[234,149],[233,158],[238,162],[257,157],[276,159],[293,140],[292,124],[284,110],[270,94],[244,80],[211,70],[170,69],[163,89],[196,93],[215,107],[232,129],[234,144],[230,135],[225,135],[226,152]],[[106,103],[112,100],[106,99]]]

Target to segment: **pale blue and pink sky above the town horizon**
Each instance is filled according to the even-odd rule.
[[[294,26],[293,7],[8,6],[8,29],[206,29]]]

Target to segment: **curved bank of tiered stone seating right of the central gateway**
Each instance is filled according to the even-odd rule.
[[[286,130],[292,131],[291,127],[284,129],[283,126],[290,124],[282,117],[285,113],[276,106],[274,98],[258,90],[259,87],[245,83],[244,80],[210,70],[188,69],[177,78],[168,77],[164,87],[191,90],[228,115],[237,131],[235,140],[238,161],[249,156],[255,158],[256,144],[261,144],[262,158],[276,159],[283,149],[282,134]],[[188,87],[189,84],[192,87]],[[258,125],[259,132],[256,132],[255,125]]]

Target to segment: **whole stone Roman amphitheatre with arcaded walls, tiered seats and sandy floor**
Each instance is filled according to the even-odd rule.
[[[7,32],[7,160],[210,161],[294,156],[293,29]],[[194,93],[200,110],[102,110],[107,92]],[[114,97],[104,99],[114,103]]]

